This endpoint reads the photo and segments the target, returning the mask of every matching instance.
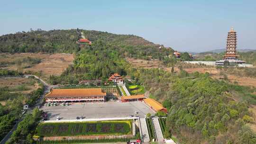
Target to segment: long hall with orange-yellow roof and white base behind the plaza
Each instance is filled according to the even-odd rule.
[[[104,102],[106,92],[93,89],[53,89],[45,96],[46,102]]]

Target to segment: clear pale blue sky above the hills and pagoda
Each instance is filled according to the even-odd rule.
[[[0,0],[0,35],[82,28],[142,36],[179,51],[256,49],[256,0]]]

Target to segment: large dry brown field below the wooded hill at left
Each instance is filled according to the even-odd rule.
[[[40,60],[33,64],[27,58]],[[73,54],[0,54],[0,68],[19,70],[22,72],[42,72],[43,78],[49,75],[60,75],[70,64],[73,64]]]

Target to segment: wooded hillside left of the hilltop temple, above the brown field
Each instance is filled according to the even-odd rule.
[[[0,52],[54,53],[78,50],[75,30],[31,31],[0,36]]]

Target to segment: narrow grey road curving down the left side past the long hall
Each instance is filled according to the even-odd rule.
[[[44,93],[43,93],[43,95],[40,96],[39,99],[37,99],[36,105],[34,106],[34,108],[37,108],[38,106],[41,106],[42,103],[43,103],[43,98],[44,98],[44,96],[46,95],[46,93],[49,92],[51,86],[50,86],[48,83],[46,83],[45,81],[43,81],[42,79],[38,78],[36,75],[28,74],[28,75],[23,75],[23,76],[24,76],[24,77],[26,77],[26,76],[34,76],[36,79],[38,79],[39,81],[41,81],[41,82],[44,84],[44,86],[45,86]],[[11,76],[7,76],[7,77],[11,77]],[[34,108],[28,109],[28,110],[27,110],[27,114],[28,114],[28,113],[31,113]],[[8,133],[7,135],[5,135],[5,137],[0,141],[0,144],[5,144],[5,143],[6,143],[6,141],[10,138],[10,136],[12,135],[12,133],[17,129],[18,123],[21,122],[24,117],[25,117],[25,116],[21,117],[21,118],[18,120],[18,122],[13,126],[13,128],[9,131],[9,133]]]

